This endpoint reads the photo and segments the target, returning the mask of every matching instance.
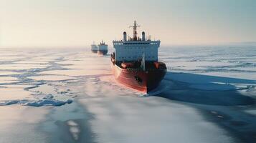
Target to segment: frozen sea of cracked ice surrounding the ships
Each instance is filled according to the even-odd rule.
[[[256,46],[166,46],[159,60],[168,73],[142,94],[115,82],[109,54],[0,49],[0,142],[256,142]]]

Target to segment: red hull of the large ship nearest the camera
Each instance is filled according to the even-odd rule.
[[[143,71],[136,69],[122,69],[113,63],[111,63],[111,66],[117,82],[144,93],[151,92],[151,90],[158,87],[161,80],[166,75],[166,69]]]

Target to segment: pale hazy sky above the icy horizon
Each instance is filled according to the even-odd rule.
[[[135,19],[163,45],[256,41],[255,0],[0,0],[0,46],[112,46]]]

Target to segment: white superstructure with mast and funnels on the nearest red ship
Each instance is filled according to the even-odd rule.
[[[127,40],[126,32],[123,32],[123,40],[113,41],[116,61],[138,61],[145,58],[145,61],[158,61],[158,47],[160,41],[151,41],[146,39],[145,32],[142,32],[142,38],[137,37],[137,24],[134,21],[133,38]]]

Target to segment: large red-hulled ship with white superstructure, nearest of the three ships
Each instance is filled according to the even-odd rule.
[[[150,36],[142,32],[137,36],[136,21],[133,26],[133,37],[127,40],[123,32],[123,40],[113,41],[115,52],[111,54],[111,66],[115,80],[120,84],[140,92],[148,93],[158,87],[166,75],[166,64],[158,61],[160,40],[151,41]]]

